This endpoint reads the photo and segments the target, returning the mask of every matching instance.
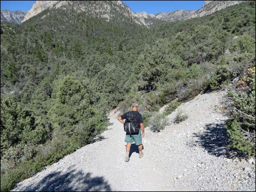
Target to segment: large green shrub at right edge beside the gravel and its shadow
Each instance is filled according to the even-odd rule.
[[[229,121],[225,128],[230,146],[247,156],[255,157],[255,67],[228,89],[225,102]]]

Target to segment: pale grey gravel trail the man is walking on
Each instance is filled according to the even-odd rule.
[[[224,92],[198,95],[168,116],[169,125],[145,128],[144,157],[133,144],[128,163],[125,132],[112,123],[102,138],[78,149],[19,184],[13,191],[255,191],[255,159],[229,155],[224,122],[216,113]],[[182,111],[188,119],[173,123]]]

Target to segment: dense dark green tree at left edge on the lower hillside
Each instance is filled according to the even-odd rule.
[[[42,144],[48,138],[48,130],[40,117],[35,117],[13,97],[1,98],[1,156],[11,146]]]

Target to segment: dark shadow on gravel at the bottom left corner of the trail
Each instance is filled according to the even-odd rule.
[[[68,172],[56,171],[41,179],[20,188],[20,191],[112,191],[104,177],[92,177],[88,172],[72,169]]]

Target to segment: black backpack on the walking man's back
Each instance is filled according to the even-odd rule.
[[[125,123],[124,123],[124,131],[126,133],[129,133],[129,134],[139,133],[139,129],[141,128],[141,126],[139,125],[139,123],[135,118],[138,114],[139,112],[137,112],[137,114],[132,114],[131,112],[127,113],[127,118],[125,119]]]

